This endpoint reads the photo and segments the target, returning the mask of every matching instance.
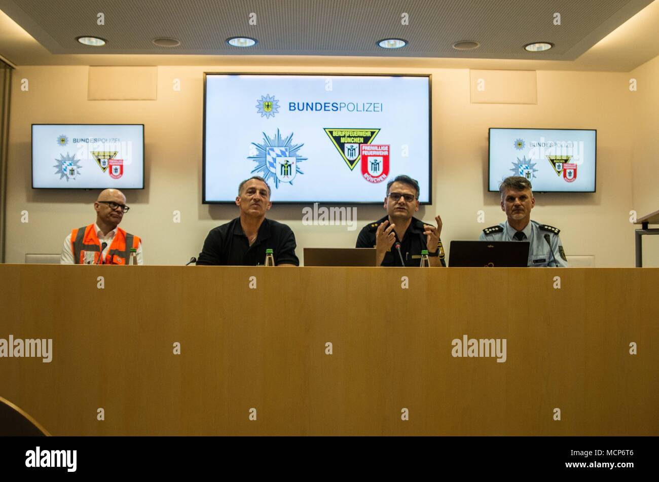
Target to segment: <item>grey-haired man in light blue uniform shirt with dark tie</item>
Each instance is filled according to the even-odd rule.
[[[485,228],[481,241],[528,241],[529,266],[567,267],[567,257],[558,233],[548,225],[531,221],[531,209],[535,198],[530,181],[521,176],[505,178],[499,186],[501,211],[508,220],[497,226]]]

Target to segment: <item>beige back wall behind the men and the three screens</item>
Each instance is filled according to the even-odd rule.
[[[655,59],[650,72],[655,83],[657,65]],[[156,101],[88,101],[87,67],[18,68],[14,72],[11,105],[7,262],[22,263],[26,252],[58,253],[71,228],[94,221],[92,201],[97,192],[30,187],[33,122],[144,123],[146,189],[127,192],[132,209],[121,226],[142,236],[147,264],[185,263],[197,255],[208,230],[237,215],[236,207],[200,202],[202,72],[231,70],[237,69],[159,67]],[[286,66],[277,70],[326,72]],[[419,214],[426,221],[436,213],[442,215],[445,246],[451,240],[476,239],[482,228],[505,219],[497,194],[486,192],[488,127],[596,128],[598,192],[538,194],[532,217],[561,229],[567,254],[594,255],[598,267],[634,265],[629,211],[637,205],[633,186],[647,173],[635,173],[633,178],[635,146],[628,140],[644,122],[654,122],[654,128],[657,122],[656,107],[648,107],[643,113],[645,117],[633,112],[629,74],[538,71],[537,105],[505,105],[472,104],[466,69],[395,69],[384,73],[432,74],[434,204],[422,208]],[[22,78],[30,82],[28,92],[20,90]],[[172,88],[174,78],[181,80],[180,92]],[[649,92],[650,83],[645,87]],[[640,88],[636,94],[640,97]],[[656,93],[653,95],[656,106]],[[648,147],[654,156],[645,155],[651,164],[648,169],[656,162],[656,138],[654,142],[654,147]],[[650,188],[644,187],[643,192],[647,195],[639,198],[638,205],[652,207]],[[175,209],[181,211],[181,223],[173,223]],[[481,209],[485,212],[484,224],[477,222]],[[29,213],[28,223],[21,223],[22,210]],[[380,207],[358,207],[358,229],[348,231],[345,227],[303,226],[301,210],[301,206],[275,206],[270,211],[270,217],[289,224],[295,231],[301,259],[304,247],[354,246],[358,229],[384,214]]]

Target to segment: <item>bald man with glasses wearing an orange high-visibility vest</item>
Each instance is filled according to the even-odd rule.
[[[64,240],[59,262],[63,265],[127,265],[135,248],[137,264],[142,261],[142,240],[119,228],[130,208],[117,189],[105,189],[94,203],[96,223],[77,228]]]

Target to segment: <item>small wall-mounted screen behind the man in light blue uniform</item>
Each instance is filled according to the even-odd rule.
[[[488,191],[523,176],[536,192],[595,192],[594,129],[490,128]]]

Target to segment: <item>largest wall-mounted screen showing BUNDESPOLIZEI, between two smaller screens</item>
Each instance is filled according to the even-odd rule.
[[[204,203],[262,176],[284,203],[382,203],[418,180],[430,203],[430,76],[204,74]]]

